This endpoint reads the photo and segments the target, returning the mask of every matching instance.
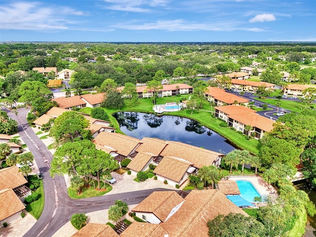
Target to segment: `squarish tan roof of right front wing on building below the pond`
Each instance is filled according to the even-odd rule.
[[[181,158],[164,157],[155,168],[154,173],[175,182],[180,182],[190,165],[193,165],[193,163]]]

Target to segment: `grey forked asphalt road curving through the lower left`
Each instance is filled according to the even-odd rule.
[[[18,110],[17,115],[13,112],[9,112],[8,116],[18,122],[19,135],[34,155],[36,163],[42,173],[45,204],[40,219],[24,237],[51,237],[64,224],[70,221],[74,213],[88,213],[108,209],[115,203],[115,200],[118,199],[123,200],[128,205],[137,204],[154,191],[167,190],[150,189],[102,197],[71,199],[67,194],[64,177],[56,175],[55,178],[52,178],[49,175],[49,163],[53,156],[29,126],[26,120],[28,111],[29,109],[21,108]]]

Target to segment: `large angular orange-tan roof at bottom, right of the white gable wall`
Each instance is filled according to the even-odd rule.
[[[193,190],[179,210],[160,226],[169,237],[208,237],[207,222],[231,212],[248,216],[218,190]]]

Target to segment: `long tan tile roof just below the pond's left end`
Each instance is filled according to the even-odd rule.
[[[118,154],[128,156],[141,140],[119,133],[100,132],[92,142],[100,146],[112,147],[118,151]]]

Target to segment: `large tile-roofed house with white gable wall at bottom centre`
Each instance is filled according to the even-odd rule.
[[[161,221],[159,226],[167,232],[169,237],[208,237],[207,222],[213,220],[218,215],[240,213],[248,216],[219,190],[193,190],[183,199],[181,199],[182,197],[179,198],[180,196],[170,196],[168,199],[177,198],[178,201],[173,203],[172,207],[172,201],[169,200],[167,205],[168,208],[164,208],[163,205],[159,204],[173,191],[167,191],[168,193],[166,195],[163,195],[162,192],[166,191],[154,192],[152,195],[156,198],[153,198],[151,197],[152,195],[150,195],[134,209],[136,215],[138,213],[142,219],[143,216],[145,216],[146,221],[149,223],[151,223],[152,219],[147,217],[150,214],[153,214],[154,211],[156,213],[159,212],[160,215],[165,213],[164,216],[167,216],[167,218],[165,218],[164,221]],[[176,192],[174,193],[176,194]],[[161,197],[162,195],[163,197]],[[158,200],[158,204],[155,203],[156,199]],[[160,208],[162,210],[160,210]],[[132,211],[134,211],[134,209]],[[153,220],[157,221],[157,219]],[[155,225],[158,223],[153,224]],[[128,230],[128,228],[126,230]]]

